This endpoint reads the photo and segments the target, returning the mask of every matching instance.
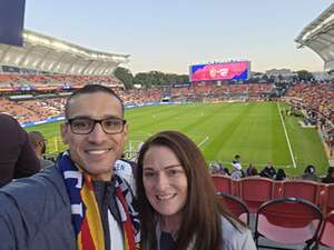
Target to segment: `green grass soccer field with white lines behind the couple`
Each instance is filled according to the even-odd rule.
[[[207,161],[230,167],[235,154],[244,168],[253,162],[261,170],[268,161],[289,174],[314,164],[320,174],[328,167],[315,129],[302,128],[295,117],[282,117],[284,103],[189,103],[147,106],[126,110],[129,123],[127,149],[136,150],[141,141],[161,130],[178,130],[189,136]],[[59,143],[59,123],[28,128],[48,138],[48,149],[63,150]],[[55,148],[56,146],[56,148]]]

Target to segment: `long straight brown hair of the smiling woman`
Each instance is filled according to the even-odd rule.
[[[143,162],[147,150],[153,146],[169,148],[183,166],[188,180],[187,201],[183,209],[175,250],[186,250],[190,244],[195,250],[220,249],[224,241],[220,214],[235,227],[236,220],[216,198],[215,188],[200,150],[188,137],[177,131],[163,131],[150,137],[139,152],[137,193],[143,249],[157,249],[158,243],[156,239],[158,214],[150,206],[143,183]]]

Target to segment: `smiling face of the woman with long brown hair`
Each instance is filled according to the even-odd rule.
[[[153,208],[165,219],[180,220],[187,200],[188,181],[184,168],[167,147],[153,146],[143,162],[143,182]]]

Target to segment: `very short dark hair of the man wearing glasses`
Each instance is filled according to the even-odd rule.
[[[121,114],[124,116],[124,103],[122,100],[118,97],[118,94],[110,88],[105,87],[105,86],[100,86],[100,84],[87,84],[81,89],[76,90],[66,101],[66,106],[65,106],[65,118],[68,119],[68,111],[70,108],[70,101],[75,98],[78,97],[80,94],[85,94],[85,93],[98,93],[98,92],[104,92],[104,93],[109,93],[111,97],[115,97],[120,106],[121,106]]]

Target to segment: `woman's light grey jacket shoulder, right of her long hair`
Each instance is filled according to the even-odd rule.
[[[233,220],[233,219],[232,219]],[[250,230],[235,221],[232,223],[224,216],[220,217],[224,248],[226,250],[255,250]]]

